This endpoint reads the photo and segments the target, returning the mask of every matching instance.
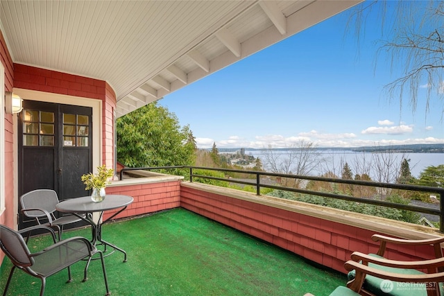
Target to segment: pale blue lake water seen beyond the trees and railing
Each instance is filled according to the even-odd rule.
[[[264,155],[266,150],[245,150],[246,155],[259,157],[264,162]],[[373,157],[387,157],[388,153],[364,153],[355,152],[352,150],[316,150],[321,158],[324,160],[323,164],[316,168],[316,171],[311,175],[321,175],[327,171],[332,171],[336,175],[340,175],[342,166],[345,162],[352,168],[352,173],[360,173],[360,168],[370,166]],[[273,155],[279,155],[280,159],[284,159],[289,155],[289,150],[273,150]],[[411,175],[419,177],[420,173],[424,171],[427,166],[438,166],[444,164],[444,153],[391,153],[389,156],[394,166],[400,166],[402,159],[410,159],[409,166]],[[360,168],[359,168],[360,167]],[[372,174],[370,174],[371,177]]]

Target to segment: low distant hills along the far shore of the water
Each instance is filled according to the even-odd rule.
[[[391,146],[364,146],[357,148],[323,148],[318,147],[318,150],[350,150],[355,152],[400,152],[400,153],[444,153],[444,143],[441,144],[413,144],[413,145],[391,145]],[[207,149],[211,150],[211,148]],[[236,153],[241,148],[218,148],[220,153]],[[260,151],[268,150],[266,148],[244,148],[245,151]],[[289,148],[273,148],[273,150],[289,150]]]

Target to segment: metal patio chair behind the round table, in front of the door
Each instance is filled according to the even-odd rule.
[[[56,204],[58,204],[58,195],[51,189],[36,189],[20,196],[22,213],[28,218],[33,218],[39,225],[54,227],[58,231],[59,241],[62,239],[63,226],[76,223],[82,219],[72,214],[65,214],[56,217]],[[28,232],[26,241],[28,241],[31,232]]]

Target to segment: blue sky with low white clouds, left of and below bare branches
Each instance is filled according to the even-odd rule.
[[[415,3],[413,1],[412,3]],[[380,26],[360,44],[336,15],[160,100],[189,125],[198,148],[285,148],[301,139],[318,147],[444,143],[443,102],[425,111],[427,81],[412,112],[388,100],[384,85],[400,76],[376,51]],[[377,10],[370,24],[379,24]],[[390,25],[390,21],[386,21]]]

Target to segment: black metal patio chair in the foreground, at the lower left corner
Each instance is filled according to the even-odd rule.
[[[10,271],[8,281],[6,282],[3,296],[9,288],[12,274],[15,269],[23,270],[28,275],[37,277],[42,281],[42,287],[40,288],[40,296],[44,295],[44,288],[46,286],[46,277],[56,274],[60,270],[68,269],[68,277],[70,282],[71,278],[71,265],[81,261],[82,259],[91,259],[94,254],[99,253],[102,263],[103,278],[105,279],[106,295],[110,295],[110,289],[108,288],[108,278],[106,277],[105,261],[103,260],[103,253],[101,250],[97,250],[86,238],[81,236],[75,236],[67,238],[58,243],[54,243],[49,247],[46,247],[40,252],[31,253],[24,241],[21,233],[29,232],[37,228],[44,228],[51,232],[53,240],[56,240],[56,234],[50,227],[44,225],[36,225],[23,229],[21,232],[16,232],[9,227],[0,225],[0,248],[5,252],[6,256],[10,259],[13,266]],[[87,280],[87,265],[85,267],[85,275],[83,281]]]

